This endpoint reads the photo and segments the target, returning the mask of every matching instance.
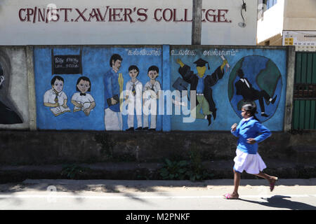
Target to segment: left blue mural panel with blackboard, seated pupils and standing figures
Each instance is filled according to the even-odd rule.
[[[38,47],[34,75],[40,130],[162,130],[160,47]]]

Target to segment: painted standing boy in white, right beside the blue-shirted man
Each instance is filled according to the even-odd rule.
[[[134,130],[134,111],[136,111],[137,128],[142,130],[142,94],[143,84],[136,78],[139,69],[136,65],[129,66],[129,76],[131,80],[126,83],[126,101],[128,102],[127,131]]]

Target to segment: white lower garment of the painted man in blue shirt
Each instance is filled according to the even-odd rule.
[[[104,110],[105,130],[121,131],[123,130],[123,118],[121,112],[112,111],[110,108]]]

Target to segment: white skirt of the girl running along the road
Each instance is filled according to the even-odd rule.
[[[267,168],[265,162],[263,162],[261,156],[256,154],[244,153],[237,148],[236,157],[234,158],[235,171],[242,173],[246,171],[248,174],[258,174],[263,169]]]

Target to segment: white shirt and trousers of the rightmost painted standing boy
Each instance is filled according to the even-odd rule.
[[[148,126],[148,116],[150,115],[150,128],[156,129],[157,121],[157,96],[159,91],[162,90],[160,83],[155,80],[154,85],[148,81],[144,88],[144,102],[143,102],[143,113],[144,113],[144,127]]]

